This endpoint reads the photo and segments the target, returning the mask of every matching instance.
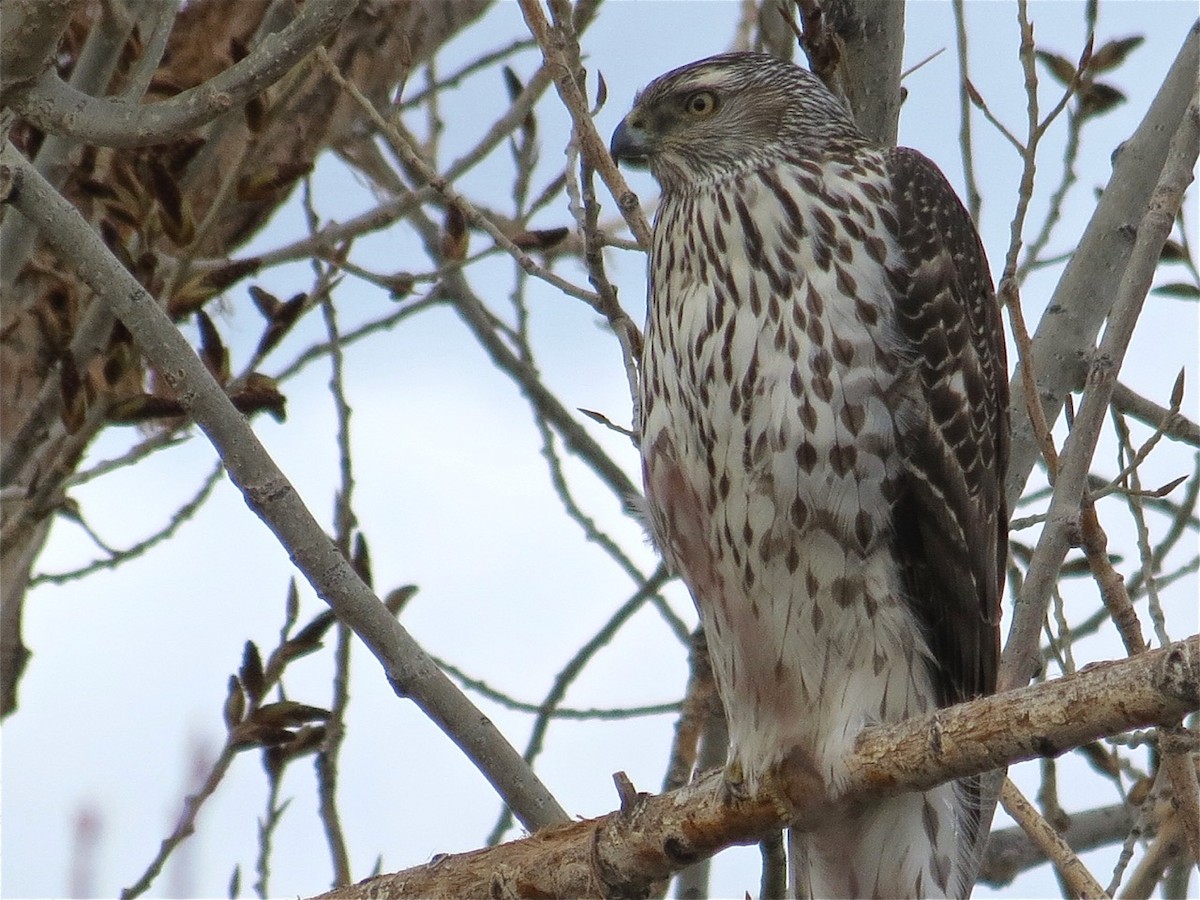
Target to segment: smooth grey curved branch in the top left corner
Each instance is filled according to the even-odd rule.
[[[42,131],[101,146],[145,146],[179,137],[241,106],[300,62],[354,12],[356,2],[308,0],[282,30],[240,62],[170,100],[134,104],[92,97],[48,70],[13,109]]]

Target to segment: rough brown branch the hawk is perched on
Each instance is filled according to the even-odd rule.
[[[665,794],[637,794],[618,812],[520,841],[437,857],[323,898],[632,896],[734,844],[791,824],[814,828],[839,809],[1030,760],[1108,734],[1177,722],[1200,707],[1200,636],[1055,682],[868,728],[846,761],[839,800],[791,772],[748,800],[712,773]]]

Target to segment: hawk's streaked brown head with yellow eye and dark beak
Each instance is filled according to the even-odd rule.
[[[764,53],[725,53],[658,77],[613,132],[618,162],[648,166],[664,190],[779,156],[865,143],[821,80]]]

